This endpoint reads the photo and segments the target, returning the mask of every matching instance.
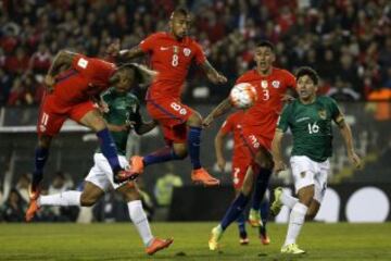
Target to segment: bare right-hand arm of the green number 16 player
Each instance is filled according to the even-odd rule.
[[[355,167],[361,167],[362,166],[362,162],[360,157],[356,154],[355,150],[354,150],[354,146],[353,146],[353,135],[352,135],[352,130],[350,128],[350,126],[348,125],[348,123],[344,121],[343,115],[340,113],[335,120],[336,124],[338,125],[343,141],[345,144],[346,147],[346,151],[348,151],[348,158],[349,160],[352,162],[352,164]]]

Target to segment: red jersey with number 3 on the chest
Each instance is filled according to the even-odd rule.
[[[282,109],[281,98],[288,88],[295,88],[294,76],[286,70],[273,67],[272,73],[262,76],[251,70],[240,76],[236,84],[250,83],[256,88],[257,100],[245,113],[245,128],[273,139],[278,115]]]

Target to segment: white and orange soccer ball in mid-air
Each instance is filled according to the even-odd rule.
[[[237,84],[229,94],[229,100],[238,109],[248,109],[256,101],[256,89],[249,83]]]

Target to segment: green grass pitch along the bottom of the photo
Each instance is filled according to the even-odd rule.
[[[256,229],[248,226],[249,246],[239,246],[237,225],[222,239],[219,251],[210,251],[207,239],[216,223],[152,223],[156,236],[174,244],[155,256],[143,246],[130,223],[116,224],[0,224],[0,260],[391,260],[391,223],[307,223],[299,246],[301,257],[279,249],[287,225],[268,225],[272,244],[262,246]]]

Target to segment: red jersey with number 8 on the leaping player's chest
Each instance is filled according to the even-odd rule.
[[[195,60],[197,64],[202,64],[206,60],[201,46],[193,39],[185,37],[178,41],[169,33],[155,33],[139,46],[150,54],[151,67],[159,72],[148,98],[179,98],[191,62]]]

